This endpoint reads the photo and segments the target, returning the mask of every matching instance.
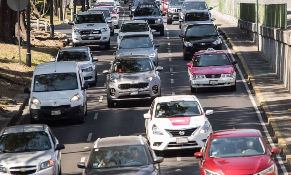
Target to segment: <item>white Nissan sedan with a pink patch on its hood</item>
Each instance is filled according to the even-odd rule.
[[[157,97],[144,114],[145,134],[153,150],[202,148],[212,126],[194,95]]]

